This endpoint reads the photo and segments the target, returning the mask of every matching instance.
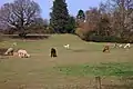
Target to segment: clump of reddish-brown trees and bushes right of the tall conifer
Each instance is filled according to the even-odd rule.
[[[133,0],[108,0],[79,14],[75,32],[82,39],[133,42]]]

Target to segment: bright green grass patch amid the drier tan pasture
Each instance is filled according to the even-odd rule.
[[[130,62],[110,62],[100,65],[64,66],[53,68],[66,76],[106,76],[130,77],[133,76],[133,65]]]

